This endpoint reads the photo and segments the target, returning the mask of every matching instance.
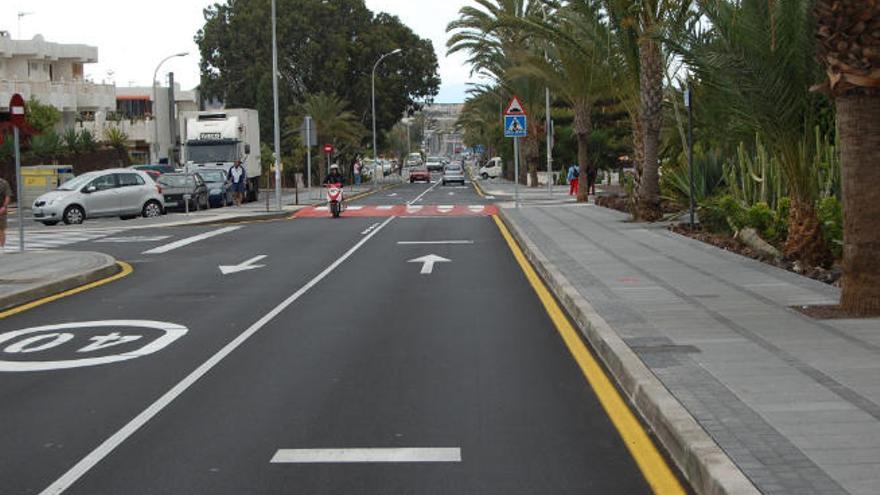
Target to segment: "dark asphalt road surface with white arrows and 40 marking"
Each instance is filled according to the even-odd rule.
[[[355,205],[484,202],[406,184]],[[489,216],[126,235],[75,248],[132,275],[0,320],[0,493],[650,492]],[[63,367],[85,358],[107,362]],[[353,457],[302,462],[321,455]]]

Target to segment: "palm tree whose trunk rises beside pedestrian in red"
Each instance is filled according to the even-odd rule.
[[[607,99],[611,91],[608,45],[595,41],[607,39],[607,29],[596,2],[569,2],[553,12],[550,19],[551,22],[538,22],[526,18],[517,22],[543,40],[548,58],[531,54],[510,72],[541,78],[571,107],[578,166],[581,176],[586,177],[588,169],[596,167],[587,157],[593,131],[591,112],[595,103]],[[587,193],[587,181],[581,181],[578,201],[586,202]]]

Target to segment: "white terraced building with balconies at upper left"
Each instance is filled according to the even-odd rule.
[[[61,110],[65,127],[83,112],[115,109],[114,87],[83,77],[83,66],[97,61],[94,46],[50,43],[40,35],[14,40],[0,31],[0,111],[9,111],[14,93]]]

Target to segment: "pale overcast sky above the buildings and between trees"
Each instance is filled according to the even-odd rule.
[[[374,12],[400,17],[422,38],[434,42],[440,61],[442,86],[437,101],[464,100],[469,69],[460,55],[446,57],[446,24],[468,0],[365,0]],[[0,0],[0,30],[19,38],[18,12],[32,12],[21,19],[21,37],[42,34],[46,41],[84,43],[98,47],[98,63],[86,66],[94,81],[115,81],[118,86],[146,86],[156,64],[167,55],[183,51],[190,55],[172,59],[162,72],[173,71],[183,88],[199,82],[198,49],[193,42],[204,24],[202,9],[213,0]]]

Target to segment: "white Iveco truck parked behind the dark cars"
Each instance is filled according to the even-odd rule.
[[[260,119],[256,110],[182,112],[183,162],[189,172],[223,168],[227,172],[241,160],[247,171],[246,201],[256,201],[260,175]]]

